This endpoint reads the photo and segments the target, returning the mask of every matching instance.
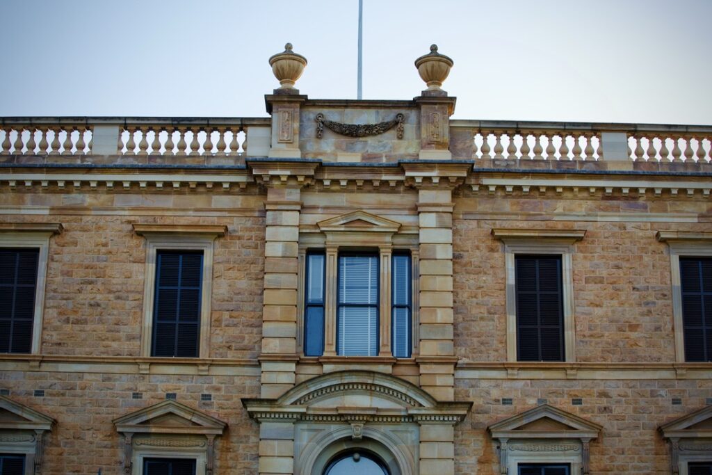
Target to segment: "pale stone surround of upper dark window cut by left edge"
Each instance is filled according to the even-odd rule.
[[[42,321],[44,315],[45,289],[47,286],[47,266],[49,262],[49,241],[55,234],[61,234],[59,223],[3,223],[0,224],[0,247],[34,248],[39,250],[37,261],[37,281],[35,286],[35,308],[32,319],[32,343],[30,354],[41,353]]]

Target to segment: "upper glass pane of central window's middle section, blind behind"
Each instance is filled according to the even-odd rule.
[[[340,303],[377,303],[377,256],[339,258],[339,301]]]

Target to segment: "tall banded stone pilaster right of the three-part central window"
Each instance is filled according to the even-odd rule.
[[[420,385],[454,400],[452,193],[419,189]]]

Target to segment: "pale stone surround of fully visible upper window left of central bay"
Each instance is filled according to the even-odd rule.
[[[150,357],[152,350],[158,251],[202,251],[199,357],[209,357],[214,241],[226,234],[227,226],[134,224],[133,228],[146,239],[141,356]]]

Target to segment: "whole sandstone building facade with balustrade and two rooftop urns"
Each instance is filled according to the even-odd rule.
[[[712,473],[712,127],[270,63],[268,118],[2,119],[1,474]]]

